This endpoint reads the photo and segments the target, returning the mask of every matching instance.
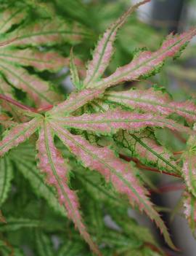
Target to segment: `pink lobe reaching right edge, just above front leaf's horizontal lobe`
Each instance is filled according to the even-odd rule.
[[[176,113],[189,122],[196,121],[196,105],[192,101],[174,102],[167,93],[153,88],[131,89],[123,92],[108,91],[105,93],[105,99],[131,109],[141,109],[143,112],[153,112],[159,115]]]

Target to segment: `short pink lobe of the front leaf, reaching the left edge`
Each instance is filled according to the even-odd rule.
[[[22,123],[12,128],[4,139],[0,141],[0,156],[4,155],[12,147],[17,147],[18,144],[28,139],[40,125],[40,117],[35,117],[28,123]]]

